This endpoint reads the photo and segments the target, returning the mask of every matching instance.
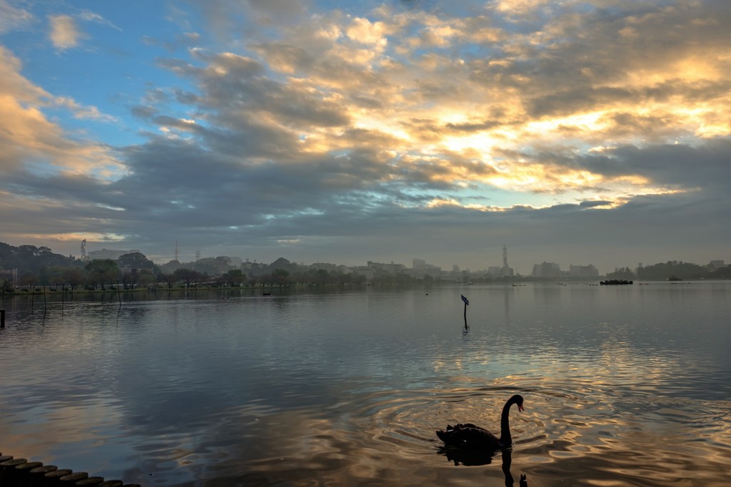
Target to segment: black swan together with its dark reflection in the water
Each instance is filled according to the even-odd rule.
[[[523,396],[515,394],[505,402],[500,416],[500,437],[496,437],[488,430],[471,423],[458,423],[455,426],[447,425],[447,429],[436,432],[444,446],[437,450],[455,465],[487,465],[491,463],[497,450],[502,451],[503,473],[505,485],[512,487],[515,482],[510,474],[512,464],[512,435],[510,434],[509,413],[513,404],[518,405],[518,411],[523,410]],[[528,486],[525,475],[520,475],[520,487]]]

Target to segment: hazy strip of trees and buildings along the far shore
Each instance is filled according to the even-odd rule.
[[[405,269],[408,271],[409,269]],[[228,257],[201,258],[194,262],[170,261],[157,265],[142,253],[128,253],[116,260],[82,260],[53,253],[47,247],[0,242],[0,292],[92,293],[124,291],[183,291],[226,288],[304,288],[316,286],[433,285],[530,282],[598,282],[600,277],[557,275],[554,277],[496,276],[485,272],[421,275],[408,272],[368,272],[366,267],[347,268],[332,264],[295,264],[278,258],[270,264],[232,264]],[[731,278],[731,265],[690,264],[668,261],[637,269],[608,272],[607,280],[706,280]],[[14,285],[15,280],[15,285]]]

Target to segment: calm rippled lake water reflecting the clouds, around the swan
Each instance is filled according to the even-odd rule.
[[[53,299],[0,303],[4,454],[143,486],[731,480],[731,282]],[[512,394],[512,452],[440,450]]]

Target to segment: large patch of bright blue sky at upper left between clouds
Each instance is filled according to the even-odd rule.
[[[158,58],[186,55],[170,48],[181,27],[160,22],[167,15],[162,4],[144,2],[145,15],[140,15],[129,2],[124,8],[117,2],[77,2],[64,12],[74,20],[77,43],[64,49],[53,47],[49,37],[49,16],[58,12],[45,7],[35,4],[36,21],[26,30],[6,33],[0,42],[23,58],[20,74],[56,99],[44,112],[72,132],[111,145],[140,142],[139,132],[129,127],[143,124],[135,123],[130,109],[141,104],[148,90],[174,86],[194,91],[189,80],[156,64]]]

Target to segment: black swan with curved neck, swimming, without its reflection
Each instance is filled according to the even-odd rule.
[[[455,426],[447,425],[446,430],[440,429],[436,432],[436,436],[447,446],[458,448],[469,448],[473,450],[498,450],[501,448],[509,448],[512,445],[512,437],[510,436],[510,423],[508,421],[508,413],[510,406],[518,404],[518,410],[523,410],[523,396],[515,394],[507,400],[503,406],[503,412],[500,417],[500,437],[496,437],[491,432],[480,426],[471,423],[455,424]]]

